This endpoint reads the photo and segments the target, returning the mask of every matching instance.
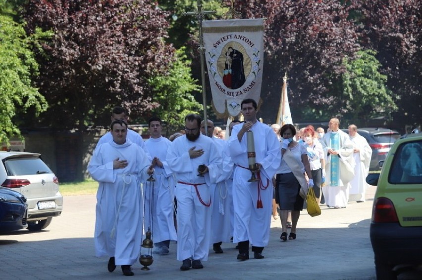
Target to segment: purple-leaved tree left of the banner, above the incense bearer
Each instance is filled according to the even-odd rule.
[[[108,123],[115,105],[132,116],[158,107],[148,80],[165,73],[174,49],[155,1],[29,0],[23,15],[30,33],[54,33],[37,53],[46,124],[83,130]]]

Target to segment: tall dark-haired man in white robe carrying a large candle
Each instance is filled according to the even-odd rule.
[[[257,103],[245,99],[241,103],[245,122],[233,127],[226,154],[236,164],[233,175],[234,233],[239,242],[238,260],[249,259],[249,243],[254,258],[264,258],[262,251],[268,244],[272,213],[272,178],[281,161],[280,143],[271,127],[257,120]],[[258,181],[251,179],[248,160],[247,131],[252,130],[255,142]],[[249,143],[251,144],[251,143]]]

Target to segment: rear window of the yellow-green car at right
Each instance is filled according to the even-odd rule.
[[[392,184],[422,184],[422,141],[397,148],[388,181]]]

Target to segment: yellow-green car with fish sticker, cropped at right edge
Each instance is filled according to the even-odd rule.
[[[377,186],[370,240],[378,280],[396,280],[402,268],[422,264],[422,133],[409,134],[391,147]]]

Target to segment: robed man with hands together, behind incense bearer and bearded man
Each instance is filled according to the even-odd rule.
[[[155,182],[144,182],[145,231],[151,230],[154,240],[154,252],[169,253],[170,240],[177,240],[174,226],[174,191],[176,183],[165,157],[171,142],[161,136],[161,119],[152,117],[148,120],[151,138],[145,141],[145,147],[153,157]],[[154,195],[152,199],[151,196]],[[152,210],[152,213],[151,213]],[[152,221],[150,221],[150,218]],[[150,224],[152,222],[152,225]]]

